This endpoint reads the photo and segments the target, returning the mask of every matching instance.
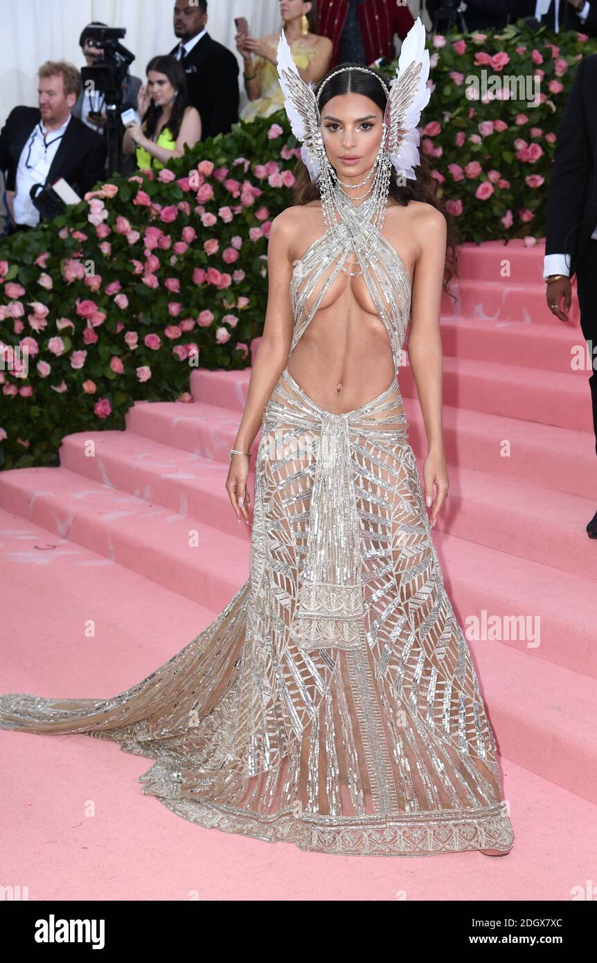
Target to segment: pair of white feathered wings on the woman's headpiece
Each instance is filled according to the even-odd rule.
[[[313,87],[306,84],[298,73],[284,31],[280,34],[277,46],[277,72],[293,134],[302,144],[300,155],[311,180],[317,180],[324,152],[322,117]],[[396,78],[392,81],[384,116],[388,128],[386,149],[390,160],[397,173],[413,179],[413,168],[419,163],[417,124],[430,96],[428,75],[425,27],[421,18],[417,17],[402,42]]]

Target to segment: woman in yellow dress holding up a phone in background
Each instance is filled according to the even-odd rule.
[[[329,66],[333,44],[327,37],[315,33],[317,16],[314,0],[280,0],[280,15],[298,73],[307,83],[316,84]],[[242,120],[270,117],[284,107],[276,68],[279,33],[261,39],[237,34],[235,39],[237,50],[245,61],[245,90],[248,97],[240,117]]]

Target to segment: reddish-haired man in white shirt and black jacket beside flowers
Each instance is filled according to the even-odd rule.
[[[64,177],[83,197],[104,177],[106,144],[72,116],[81,75],[65,61],[39,67],[39,109],[14,107],[0,133],[0,169],[6,177],[11,229],[35,227],[39,211],[30,191]]]

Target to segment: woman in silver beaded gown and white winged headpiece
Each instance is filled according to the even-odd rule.
[[[419,164],[416,125],[429,96],[425,30],[418,19],[404,40],[391,88],[371,68],[343,65],[312,90],[283,34],[278,71],[319,200],[283,212],[270,241],[264,339],[226,482],[247,520],[247,502],[240,509],[237,499],[248,500],[243,449],[257,417],[247,582],[211,625],[132,689],[109,699],[4,695],[0,726],[85,733],[154,759],[140,777],[143,793],[201,826],[327,853],[504,854],[513,831],[496,743],[444,588],[398,383],[416,286],[381,231],[392,169],[403,183]],[[341,150],[345,160],[358,153],[360,167],[341,162]],[[398,180],[391,194],[400,196]],[[403,205],[393,205],[402,216]],[[315,240],[293,248],[315,225]],[[295,240],[286,248],[289,235]],[[287,249],[303,253],[292,268],[287,259],[283,275]],[[417,261],[415,278],[425,259]],[[288,364],[273,363],[285,283],[289,334],[278,356],[292,356],[296,377]],[[367,315],[355,293],[361,304],[369,297]],[[350,410],[331,410],[304,390],[317,358],[324,367],[324,352],[334,351],[338,304],[352,314],[342,322],[345,336],[356,323],[368,339],[363,364],[369,351],[374,359],[383,351],[394,370],[388,387]],[[412,312],[409,351],[413,332],[429,324],[422,312]],[[294,351],[309,325],[298,377]],[[351,376],[343,377],[350,393]],[[422,391],[417,380],[426,427],[436,426],[441,385],[431,377]],[[342,379],[331,383],[338,401],[346,397]],[[433,515],[447,493],[443,455],[428,458],[429,481],[437,489]]]

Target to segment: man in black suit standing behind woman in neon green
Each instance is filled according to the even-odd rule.
[[[187,74],[189,99],[201,117],[201,140],[227,134],[239,118],[239,65],[231,50],[206,30],[207,0],[176,0],[174,34],[180,43],[170,53]]]

